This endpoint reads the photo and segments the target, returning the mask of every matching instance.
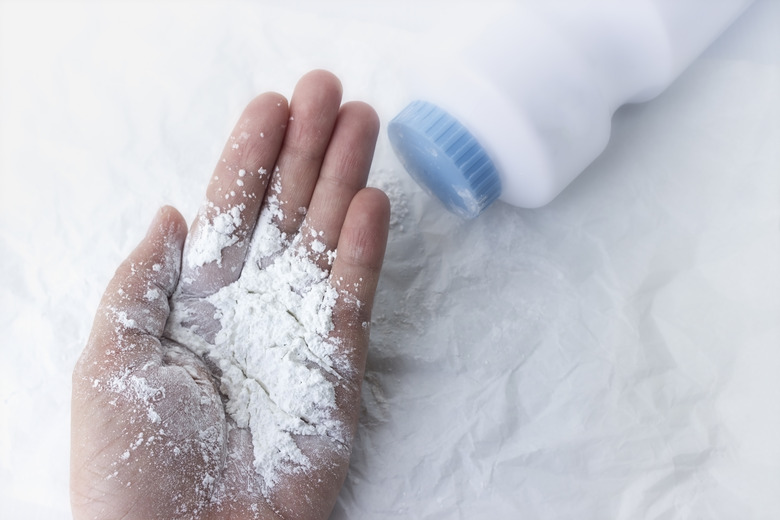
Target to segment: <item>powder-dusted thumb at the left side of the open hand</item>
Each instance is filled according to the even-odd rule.
[[[108,284],[81,366],[131,367],[159,355],[158,338],[179,280],[186,234],[178,211],[166,206],[157,212],[144,239]]]

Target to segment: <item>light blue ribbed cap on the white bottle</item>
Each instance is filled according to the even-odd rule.
[[[474,218],[501,195],[498,172],[485,150],[436,105],[410,103],[387,133],[404,168],[453,213]]]

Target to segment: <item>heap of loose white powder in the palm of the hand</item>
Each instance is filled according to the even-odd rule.
[[[345,442],[345,435],[332,417],[333,382],[339,379],[334,367],[343,367],[335,359],[335,341],[328,339],[338,293],[328,273],[273,224],[279,213],[276,196],[267,202],[240,278],[208,298],[219,321],[213,343],[182,325],[192,318],[175,296],[166,332],[219,368],[226,410],[251,431],[255,470],[272,487],[280,473],[309,467],[294,436],[327,435]],[[202,252],[224,247],[223,231],[233,221],[225,224],[198,237],[197,262],[206,258]]]

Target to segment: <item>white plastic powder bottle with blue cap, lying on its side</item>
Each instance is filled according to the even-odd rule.
[[[660,94],[752,0],[518,2],[421,67],[389,124],[412,177],[473,218],[551,201],[606,147],[612,115]]]

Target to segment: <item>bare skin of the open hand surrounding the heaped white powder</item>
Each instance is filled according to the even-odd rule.
[[[341,92],[332,74],[314,71],[301,78],[289,105],[281,95],[266,93],[246,107],[206,193],[207,202],[224,209],[224,193],[240,186],[250,194],[244,199],[243,223],[233,231],[237,240],[222,251],[221,265],[188,266],[186,224],[178,211],[164,207],[116,271],[73,372],[75,518],[330,514],[357,427],[366,324],[390,213],[384,193],[365,188],[379,130],[376,113],[363,103],[341,105]],[[239,170],[257,172],[261,167],[269,173],[239,178]],[[347,369],[336,385],[342,431],[338,436],[298,437],[311,466],[283,475],[269,489],[254,471],[248,430],[225,413],[218,374],[188,345],[166,338],[165,324],[174,297],[195,309],[194,321],[201,329],[218,327],[204,298],[240,275],[255,219],[271,196],[267,188],[277,183],[277,226],[290,238],[300,234],[310,258],[329,272],[333,285],[342,282],[333,309],[333,337],[339,339],[339,356]],[[208,203],[201,210],[207,216],[213,211]],[[189,233],[199,225],[196,219]],[[328,249],[337,248],[332,265],[311,249],[310,229],[322,232],[317,239]],[[165,297],[149,298],[150,291]],[[142,381],[143,400],[130,387],[118,388],[119,376],[125,382]],[[211,433],[205,440],[203,431]]]

